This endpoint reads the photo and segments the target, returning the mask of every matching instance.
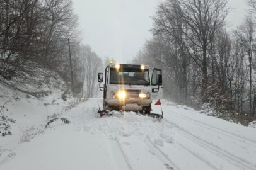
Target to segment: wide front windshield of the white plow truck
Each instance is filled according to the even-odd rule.
[[[150,85],[148,70],[110,69],[110,84]]]

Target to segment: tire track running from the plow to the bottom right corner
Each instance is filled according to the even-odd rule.
[[[196,142],[198,142],[198,144],[201,144],[205,148],[213,150],[219,156],[223,156],[223,157],[226,157],[227,159],[230,159],[230,161],[233,161],[234,162],[233,164],[235,164],[236,166],[238,166],[238,167],[243,166],[247,169],[256,170],[256,167],[253,166],[252,164],[250,164],[250,162],[248,162],[244,159],[241,159],[240,157],[237,157],[237,156],[231,154],[230,152],[227,152],[226,150],[221,150],[218,146],[211,144],[211,143],[207,142],[206,140],[203,140],[203,139],[193,135],[192,133],[190,133],[187,130],[184,130],[182,127],[178,126],[176,123],[170,122],[170,120],[166,120],[166,118],[165,118],[165,122],[169,123],[170,125],[175,126],[176,128],[178,128],[178,130],[183,132],[183,135],[189,137],[190,139],[195,140]],[[179,144],[179,143],[177,143],[177,144]],[[180,145],[180,146],[182,146],[182,145]],[[185,147],[185,146],[183,146],[183,147]]]

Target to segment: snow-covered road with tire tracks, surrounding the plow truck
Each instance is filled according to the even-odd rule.
[[[55,125],[54,130],[22,145],[15,159],[1,167],[256,170],[255,128],[165,100],[161,121],[132,112],[98,118],[102,100],[89,99],[67,111],[64,117],[71,120],[70,125]],[[161,113],[161,107],[153,105],[152,113]]]

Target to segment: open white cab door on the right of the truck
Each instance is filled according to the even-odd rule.
[[[162,75],[162,70],[154,68],[151,76],[152,99],[163,99],[163,85],[161,82],[158,83],[158,75]]]

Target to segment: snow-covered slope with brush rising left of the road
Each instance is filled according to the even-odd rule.
[[[0,137],[0,146],[3,149],[11,150],[17,148],[25,129],[44,127],[47,120],[60,116],[73,103],[74,98],[67,101],[62,99],[66,85],[61,77],[56,76],[53,72],[50,73],[44,70],[42,72],[44,72],[45,76],[35,77],[38,81],[42,81],[40,85],[20,83],[20,90],[28,91],[29,94],[0,84],[1,118],[15,120],[8,122],[11,126],[10,132],[12,135]],[[0,80],[3,81],[3,77],[0,76]],[[30,94],[35,95],[32,96]],[[38,98],[35,98],[35,96]],[[1,107],[3,107],[3,110],[1,110]],[[3,160],[0,159],[1,161]]]

